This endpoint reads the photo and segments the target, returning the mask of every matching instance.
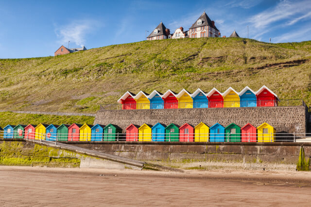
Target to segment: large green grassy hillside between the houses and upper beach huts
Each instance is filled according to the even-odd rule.
[[[112,45],[57,57],[0,59],[0,110],[94,112],[127,90],[224,92],[268,86],[311,105],[311,41],[188,38]]]

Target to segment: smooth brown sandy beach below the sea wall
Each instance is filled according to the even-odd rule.
[[[310,206],[311,172],[0,166],[1,206]]]

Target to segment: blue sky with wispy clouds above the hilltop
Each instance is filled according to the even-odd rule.
[[[269,42],[311,40],[311,0],[0,0],[0,58],[138,42],[162,22],[188,30],[206,10],[222,36]],[[148,32],[147,32],[148,35]]]

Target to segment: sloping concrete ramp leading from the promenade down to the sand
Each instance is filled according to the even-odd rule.
[[[60,150],[70,151],[81,155],[81,168],[104,168],[104,169],[138,169],[144,167],[145,162],[135,159],[124,158],[116,155],[106,154],[94,150],[72,146],[65,143],[52,143],[49,141],[25,139],[26,142],[36,143],[53,147]]]

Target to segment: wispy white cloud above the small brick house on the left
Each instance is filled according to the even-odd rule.
[[[59,39],[59,44],[66,44],[70,41],[76,45],[83,46],[86,43],[86,35],[99,26],[100,24],[95,20],[77,20],[67,25],[56,27],[55,33]]]

